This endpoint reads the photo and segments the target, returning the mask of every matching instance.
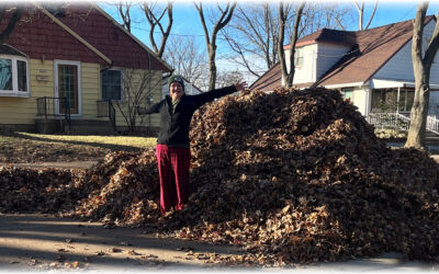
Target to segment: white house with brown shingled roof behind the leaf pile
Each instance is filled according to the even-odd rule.
[[[297,41],[295,52],[296,88],[325,87],[339,90],[361,114],[382,112],[384,107],[408,115],[414,99],[412,62],[413,20],[346,32],[319,30]],[[429,43],[436,24],[427,16],[423,45]],[[290,46],[285,46],[289,60]],[[290,69],[290,64],[286,64]],[[274,90],[284,85],[277,64],[250,89]],[[430,110],[439,116],[439,55],[430,70]]]

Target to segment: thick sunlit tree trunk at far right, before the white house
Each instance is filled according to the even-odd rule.
[[[439,49],[439,21],[436,22],[430,43],[423,57],[423,36],[428,2],[420,2],[413,30],[412,60],[415,77],[415,99],[410,111],[410,126],[405,147],[424,150],[426,124],[430,98],[430,69]],[[438,13],[439,15],[439,13]]]

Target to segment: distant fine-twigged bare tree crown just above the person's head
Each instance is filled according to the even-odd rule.
[[[207,89],[207,58],[201,43],[190,36],[171,36],[164,59],[189,82]]]

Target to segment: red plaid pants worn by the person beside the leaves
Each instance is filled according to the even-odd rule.
[[[156,155],[160,175],[160,212],[165,214],[171,207],[180,210],[189,197],[191,150],[157,145]]]

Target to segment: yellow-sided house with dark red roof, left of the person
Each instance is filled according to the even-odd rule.
[[[10,14],[9,14],[10,18]],[[8,23],[8,14],[0,22]],[[95,4],[30,4],[0,45],[0,128],[97,134],[142,127],[171,67]]]

